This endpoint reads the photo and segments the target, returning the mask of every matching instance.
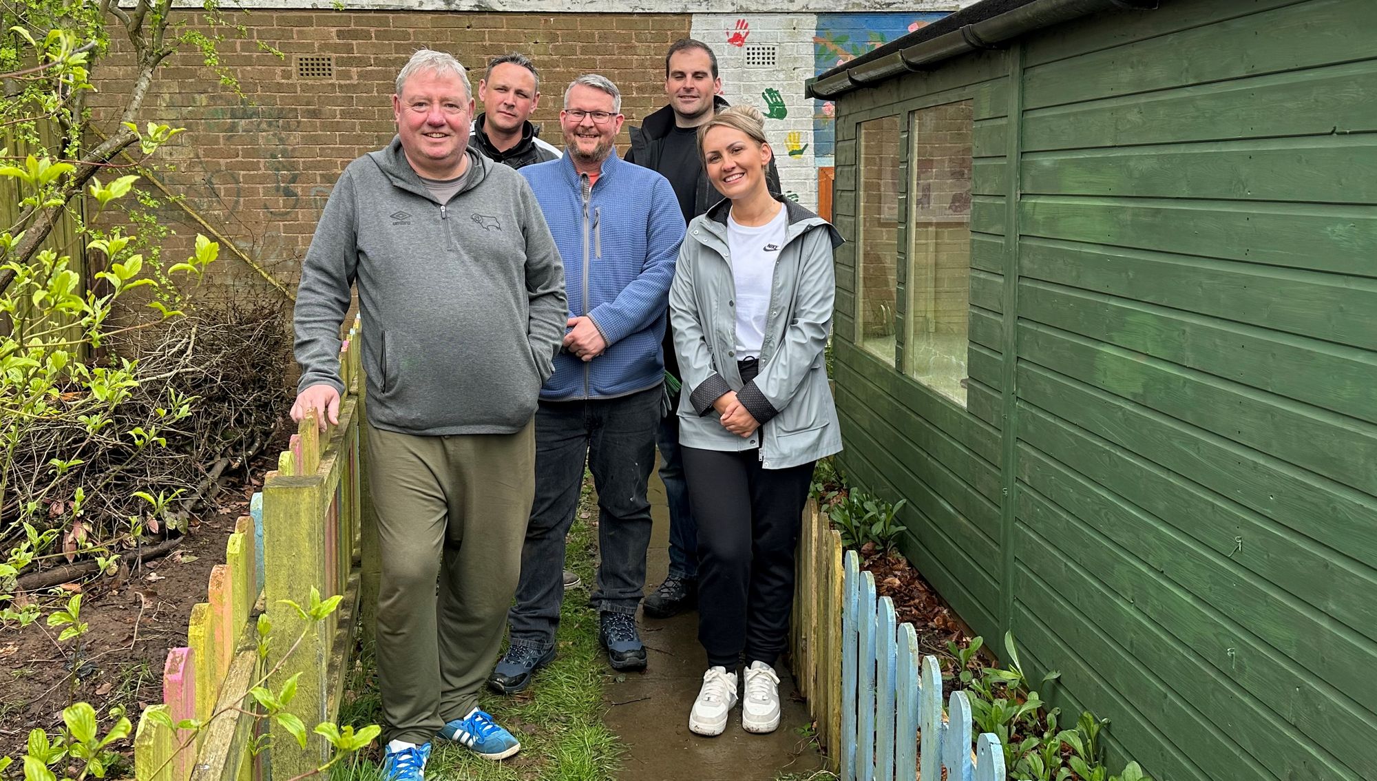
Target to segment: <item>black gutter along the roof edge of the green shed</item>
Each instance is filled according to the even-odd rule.
[[[910,70],[1001,44],[1113,7],[1153,10],[1158,0],[983,0],[810,79],[804,94],[832,101]]]

